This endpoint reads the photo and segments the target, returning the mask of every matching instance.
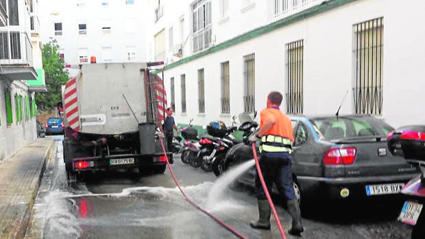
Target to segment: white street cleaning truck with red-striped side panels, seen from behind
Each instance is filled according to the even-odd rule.
[[[162,79],[149,73],[161,64],[83,64],[62,87],[64,163],[70,180],[119,168],[164,173],[167,158],[158,126],[167,101]],[[167,155],[172,162],[172,153]]]

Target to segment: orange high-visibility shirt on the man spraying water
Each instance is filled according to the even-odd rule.
[[[267,118],[275,118],[276,123],[265,133],[265,135],[271,134],[274,136],[289,138],[292,142],[294,141],[291,119],[286,114],[275,108],[266,108],[261,110],[260,127],[263,127]]]

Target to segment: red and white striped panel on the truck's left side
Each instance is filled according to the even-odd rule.
[[[78,114],[77,79],[73,78],[65,85],[64,110],[69,127],[75,131],[80,130],[80,116]]]

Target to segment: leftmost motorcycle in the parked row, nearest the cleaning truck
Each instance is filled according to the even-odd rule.
[[[197,136],[197,129],[192,126],[193,118],[189,121],[189,125],[182,129],[182,137],[184,138],[181,159],[184,164],[189,164],[192,158],[197,158],[199,153],[199,137]]]

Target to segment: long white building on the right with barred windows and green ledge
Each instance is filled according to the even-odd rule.
[[[165,60],[178,123],[227,124],[277,90],[288,114],[341,105],[393,127],[421,124],[424,10],[413,0],[151,0],[149,60]]]

